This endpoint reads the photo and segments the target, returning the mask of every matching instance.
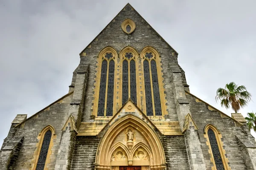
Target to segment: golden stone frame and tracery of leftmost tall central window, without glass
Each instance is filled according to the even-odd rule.
[[[101,108],[102,110],[104,110],[102,112],[102,115],[99,116],[99,117],[105,117],[105,116],[108,116],[106,114],[106,102],[107,102],[107,89],[108,89],[108,74],[109,74],[109,63],[111,61],[114,61],[114,87],[113,87],[113,113],[115,111],[115,103],[117,102],[116,101],[116,84],[117,84],[117,79],[116,79],[116,68],[117,68],[117,58],[118,58],[118,53],[116,51],[115,48],[111,47],[111,46],[107,46],[105,48],[103,48],[99,54],[98,54],[98,57],[97,57],[97,64],[96,64],[96,74],[95,74],[95,83],[94,83],[94,94],[93,94],[93,107],[92,107],[92,115],[93,116],[99,116],[97,113],[98,113],[98,109],[99,109],[99,91],[100,91],[100,81],[101,81],[101,71],[102,71],[102,62],[106,62],[107,64],[107,73],[106,73],[106,78],[104,79],[106,81],[105,83],[105,97],[104,97],[104,101],[105,101],[105,105],[104,105],[104,108]],[[113,116],[113,115],[112,115]]]

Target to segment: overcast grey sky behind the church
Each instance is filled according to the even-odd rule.
[[[29,117],[67,94],[79,53],[126,3],[0,0],[0,145],[17,114]],[[215,93],[234,81],[254,101],[240,112],[256,112],[255,0],[129,3],[179,53],[192,94],[231,116]]]

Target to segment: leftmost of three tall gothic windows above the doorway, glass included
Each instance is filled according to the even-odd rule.
[[[95,94],[96,116],[113,116],[115,95],[115,70],[118,54],[110,46],[102,49],[98,56],[98,75]]]

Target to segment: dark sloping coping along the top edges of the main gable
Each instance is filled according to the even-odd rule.
[[[108,25],[105,26],[105,28],[103,28],[102,31],[100,31],[100,33],[84,48],[84,50],[81,51],[81,53],[79,54],[80,56],[83,56],[83,55],[82,55],[83,52],[94,42],[94,40],[96,40],[96,39],[99,37],[99,35],[100,35],[106,28],[108,28],[108,26],[113,22],[113,20],[115,20],[115,18],[118,17],[118,15],[119,15],[126,7],[128,7],[128,6],[130,6],[140,17],[142,17],[142,16],[134,9],[134,7],[131,6],[130,3],[127,3],[127,4],[124,6],[124,8],[122,8],[122,10],[119,11],[119,13],[111,20],[111,22],[109,22]],[[143,17],[142,17],[142,18],[143,18]],[[150,27],[152,28],[152,30],[163,40],[163,42],[165,42],[170,48],[172,48],[172,46],[169,45],[169,43],[166,42],[166,40],[164,40],[163,37],[160,36],[160,34],[158,34],[158,32],[157,32],[156,30],[154,30],[154,28],[153,28],[144,18],[143,18],[143,20],[144,20],[145,23],[147,23],[148,26],[150,26]],[[172,50],[175,51],[174,48],[172,48]],[[178,55],[177,51],[175,51],[175,53]]]

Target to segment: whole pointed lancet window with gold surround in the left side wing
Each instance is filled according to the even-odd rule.
[[[51,125],[44,127],[38,135],[39,142],[35,151],[35,164],[33,170],[47,170],[47,164],[50,163],[49,156],[52,151],[53,139],[55,139],[55,130]]]

